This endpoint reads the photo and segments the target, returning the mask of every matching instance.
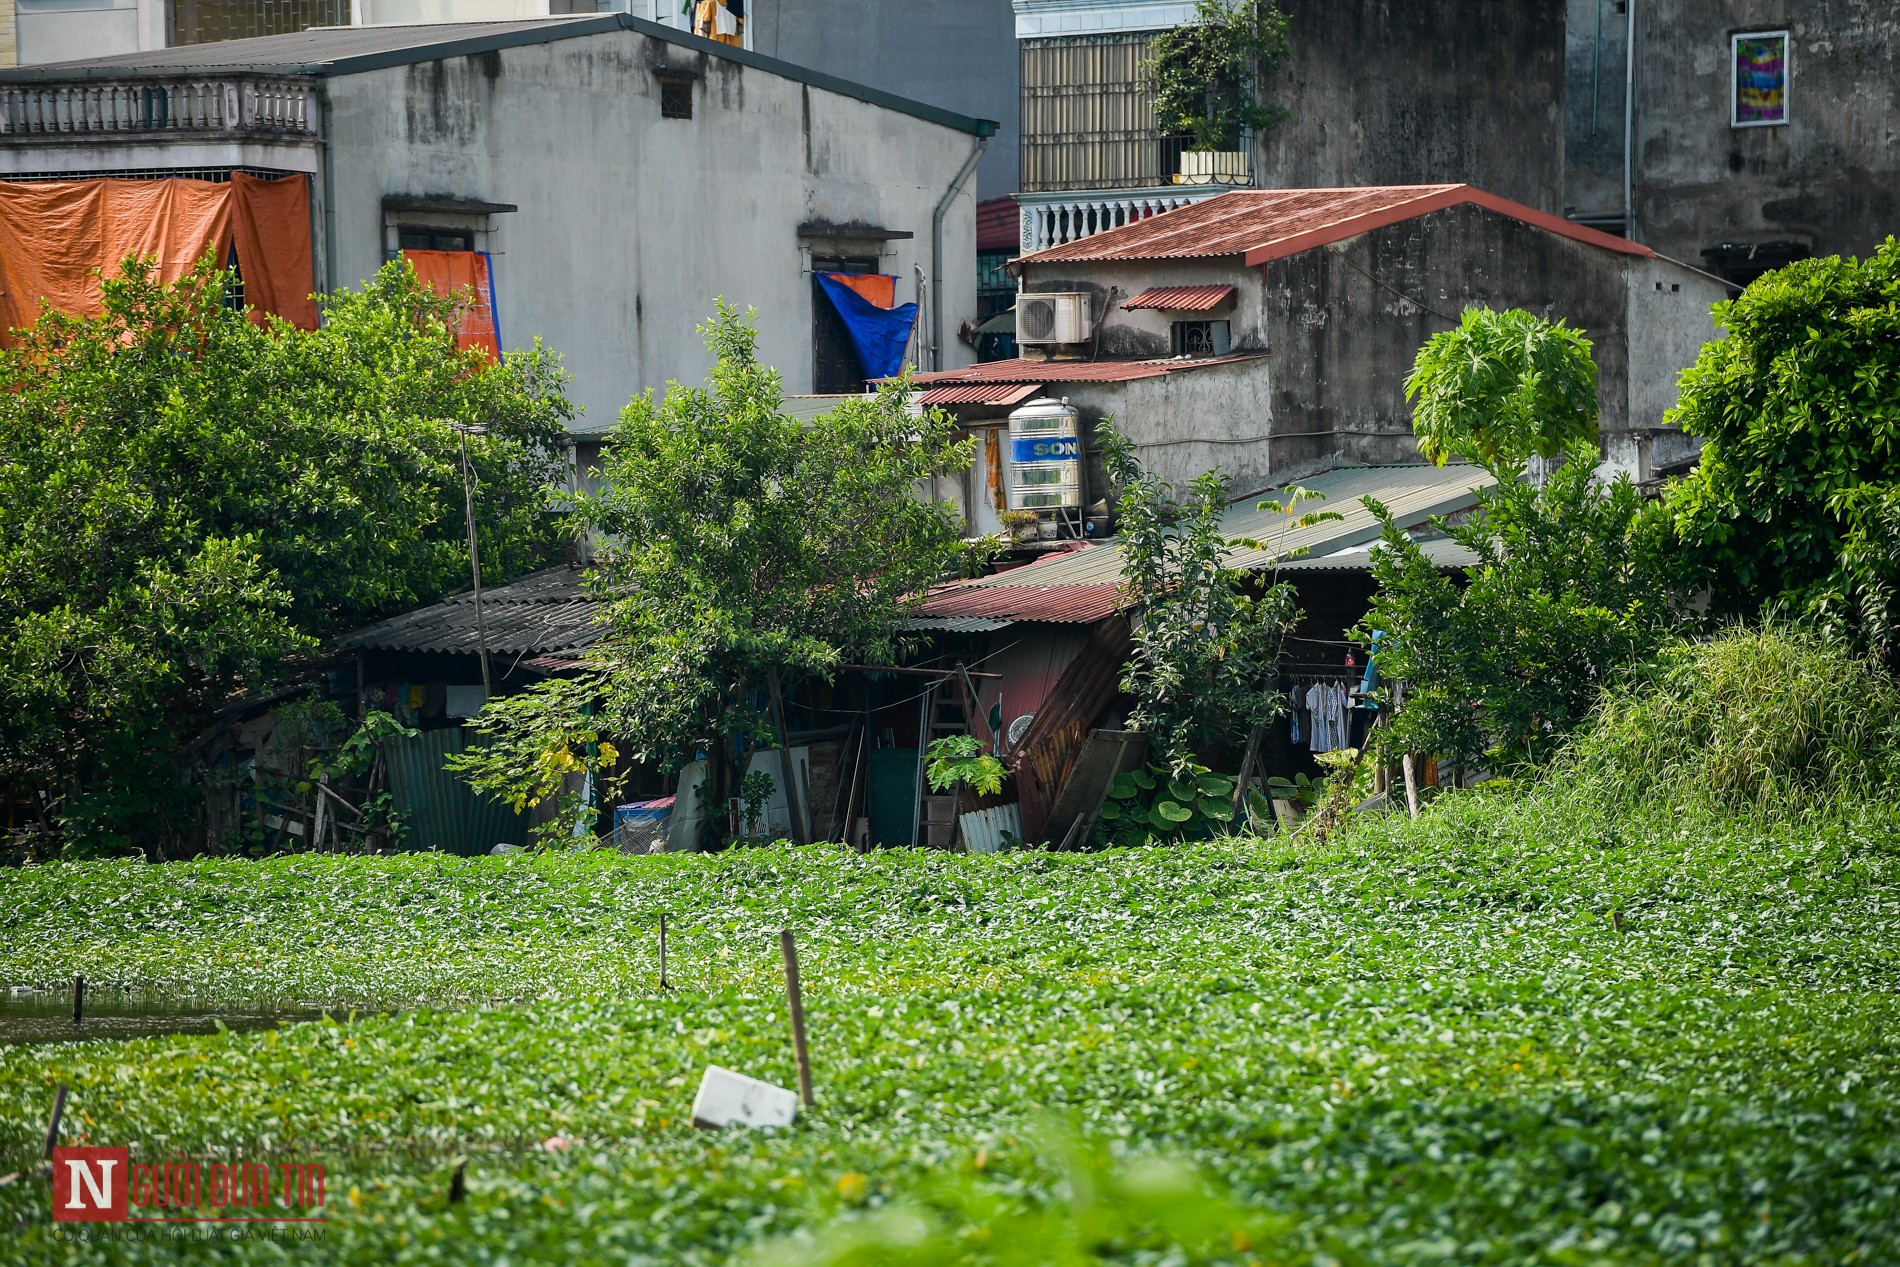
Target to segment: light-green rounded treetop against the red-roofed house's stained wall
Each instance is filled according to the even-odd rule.
[[[1433,334],[1406,378],[1412,429],[1434,465],[1556,458],[1596,443],[1590,340],[1562,321],[1512,308],[1467,308]]]

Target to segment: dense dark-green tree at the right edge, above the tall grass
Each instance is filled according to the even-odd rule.
[[[1704,439],[1666,511],[1723,614],[1780,606],[1900,638],[1900,239],[1718,304],[1668,420]]]

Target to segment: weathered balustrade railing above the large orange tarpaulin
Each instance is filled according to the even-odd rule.
[[[76,80],[0,87],[0,135],[317,131],[312,80],[220,76],[180,80]]]

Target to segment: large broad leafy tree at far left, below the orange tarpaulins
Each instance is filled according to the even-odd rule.
[[[97,317],[0,351],[0,779],[70,849],[188,836],[184,748],[321,638],[543,557],[570,408],[542,348],[456,350],[403,264],[323,329],[255,325],[209,260],[127,260]]]

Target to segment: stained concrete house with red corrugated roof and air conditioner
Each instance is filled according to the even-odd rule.
[[[1474,306],[1583,329],[1606,460],[1651,479],[1697,452],[1662,412],[1729,291],[1649,247],[1459,184],[1231,192],[1018,270],[1018,338],[1028,302],[1053,294],[1075,296],[1051,300],[1058,321],[1077,310],[1074,331],[1054,334],[1072,342],[923,374],[925,401],[998,427],[1020,399],[1068,397],[1087,424],[1112,416],[1150,469],[1186,484],[1218,465],[1237,496],[1341,463],[1417,462],[1406,374]],[[1083,501],[1102,496],[1092,463],[1083,482]]]

